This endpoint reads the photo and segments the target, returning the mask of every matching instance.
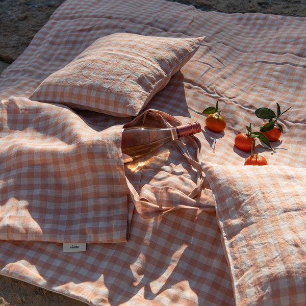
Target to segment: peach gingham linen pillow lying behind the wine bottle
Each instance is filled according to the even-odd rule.
[[[115,33],[49,75],[30,99],[108,115],[136,116],[194,55],[204,37]]]

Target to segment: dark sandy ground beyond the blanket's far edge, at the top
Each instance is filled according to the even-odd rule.
[[[171,1],[171,0],[169,0]],[[261,12],[306,17],[305,0],[174,0],[204,11]],[[0,72],[28,46],[35,33],[64,0],[1,0]]]

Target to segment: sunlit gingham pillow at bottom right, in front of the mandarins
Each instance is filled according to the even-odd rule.
[[[204,168],[236,304],[305,305],[306,168]]]

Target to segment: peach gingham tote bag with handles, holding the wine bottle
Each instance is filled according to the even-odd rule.
[[[129,173],[144,177],[146,168],[157,163],[155,154],[158,161],[162,155],[158,150],[146,166],[140,161],[124,170],[122,125],[97,131],[68,107],[22,97],[3,100],[1,116],[2,240],[126,242],[128,194],[143,218],[200,206],[203,175],[195,137],[164,148],[166,157],[173,151],[185,158],[175,169],[180,175],[162,169],[167,164],[164,158],[164,166],[158,169],[162,180],[150,174],[141,186],[133,186]],[[181,122],[148,110],[126,125],[133,124],[166,127]],[[131,167],[138,168],[138,173]],[[178,189],[176,180],[184,180],[184,188]]]

